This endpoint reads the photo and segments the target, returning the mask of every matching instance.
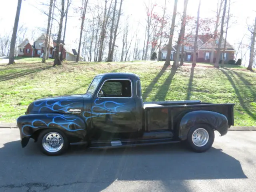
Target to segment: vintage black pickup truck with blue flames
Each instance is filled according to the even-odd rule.
[[[184,141],[196,152],[208,150],[214,130],[234,125],[234,104],[194,101],[143,102],[140,78],[131,73],[99,74],[80,95],[32,102],[17,118],[21,145],[30,138],[47,155],[69,145],[127,147]]]

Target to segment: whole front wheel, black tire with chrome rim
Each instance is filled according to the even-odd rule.
[[[40,132],[37,144],[42,153],[56,156],[66,152],[68,139],[61,130],[46,128]]]

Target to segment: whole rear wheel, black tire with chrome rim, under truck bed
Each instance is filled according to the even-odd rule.
[[[214,130],[206,124],[198,124],[188,132],[188,146],[195,152],[205,152],[212,147]]]

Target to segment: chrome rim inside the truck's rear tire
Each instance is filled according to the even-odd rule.
[[[209,134],[204,128],[196,129],[192,134],[192,142],[195,146],[202,147],[207,144]]]

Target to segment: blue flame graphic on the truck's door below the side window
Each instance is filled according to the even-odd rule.
[[[90,119],[92,117],[102,117],[102,115],[107,115],[107,114],[118,115],[117,114],[118,112],[126,111],[126,110],[120,110],[119,109],[120,107],[124,107],[124,103],[117,103],[117,102],[114,102],[114,101],[104,101],[104,102],[101,102],[101,103],[97,103],[97,101],[99,101],[99,100],[100,99],[96,99],[94,101],[95,105],[92,106],[92,111],[91,112],[86,111],[86,112],[83,113],[83,116],[84,116],[86,122],[87,122],[88,119]],[[114,105],[114,106],[110,107],[108,105]],[[95,108],[100,108],[100,109],[105,110],[107,112],[106,113],[94,112]],[[90,114],[91,116],[86,117],[85,116],[86,113]]]

